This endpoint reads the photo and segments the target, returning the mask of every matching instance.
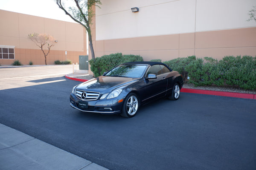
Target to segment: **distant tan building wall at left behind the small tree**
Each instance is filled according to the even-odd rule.
[[[79,62],[79,55],[87,55],[86,31],[78,23],[52,20],[43,17],[0,10],[0,45],[15,46],[15,59],[23,65],[44,65],[41,48],[28,39],[28,34],[50,34],[58,42],[47,55],[47,64],[55,60]],[[47,47],[44,48],[45,50]],[[11,65],[15,59],[0,59],[0,64]]]

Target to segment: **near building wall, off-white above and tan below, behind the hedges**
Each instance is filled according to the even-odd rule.
[[[96,57],[122,52],[145,61],[256,55],[255,0],[101,0]],[[131,12],[138,7],[139,12]]]

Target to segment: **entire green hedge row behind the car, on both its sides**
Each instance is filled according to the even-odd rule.
[[[91,59],[91,71],[95,77],[102,75],[124,62],[143,61],[138,55],[122,55],[122,53]],[[161,62],[160,59],[151,61]],[[182,74],[185,82],[195,86],[236,86],[239,88],[256,90],[256,57],[226,56],[220,61],[211,57],[204,59],[195,56],[176,58],[164,62],[170,68]],[[189,80],[188,80],[189,77]]]

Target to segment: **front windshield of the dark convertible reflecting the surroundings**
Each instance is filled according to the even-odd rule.
[[[140,78],[146,68],[146,65],[119,65],[105,74],[105,76]]]

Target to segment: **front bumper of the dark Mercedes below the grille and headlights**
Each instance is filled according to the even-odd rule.
[[[119,98],[120,99],[120,98]],[[87,107],[79,105],[82,102],[75,95],[70,95],[70,106],[79,111],[100,113],[100,114],[118,114],[122,111],[122,102],[118,102],[119,99],[103,99],[95,101],[87,101]]]

